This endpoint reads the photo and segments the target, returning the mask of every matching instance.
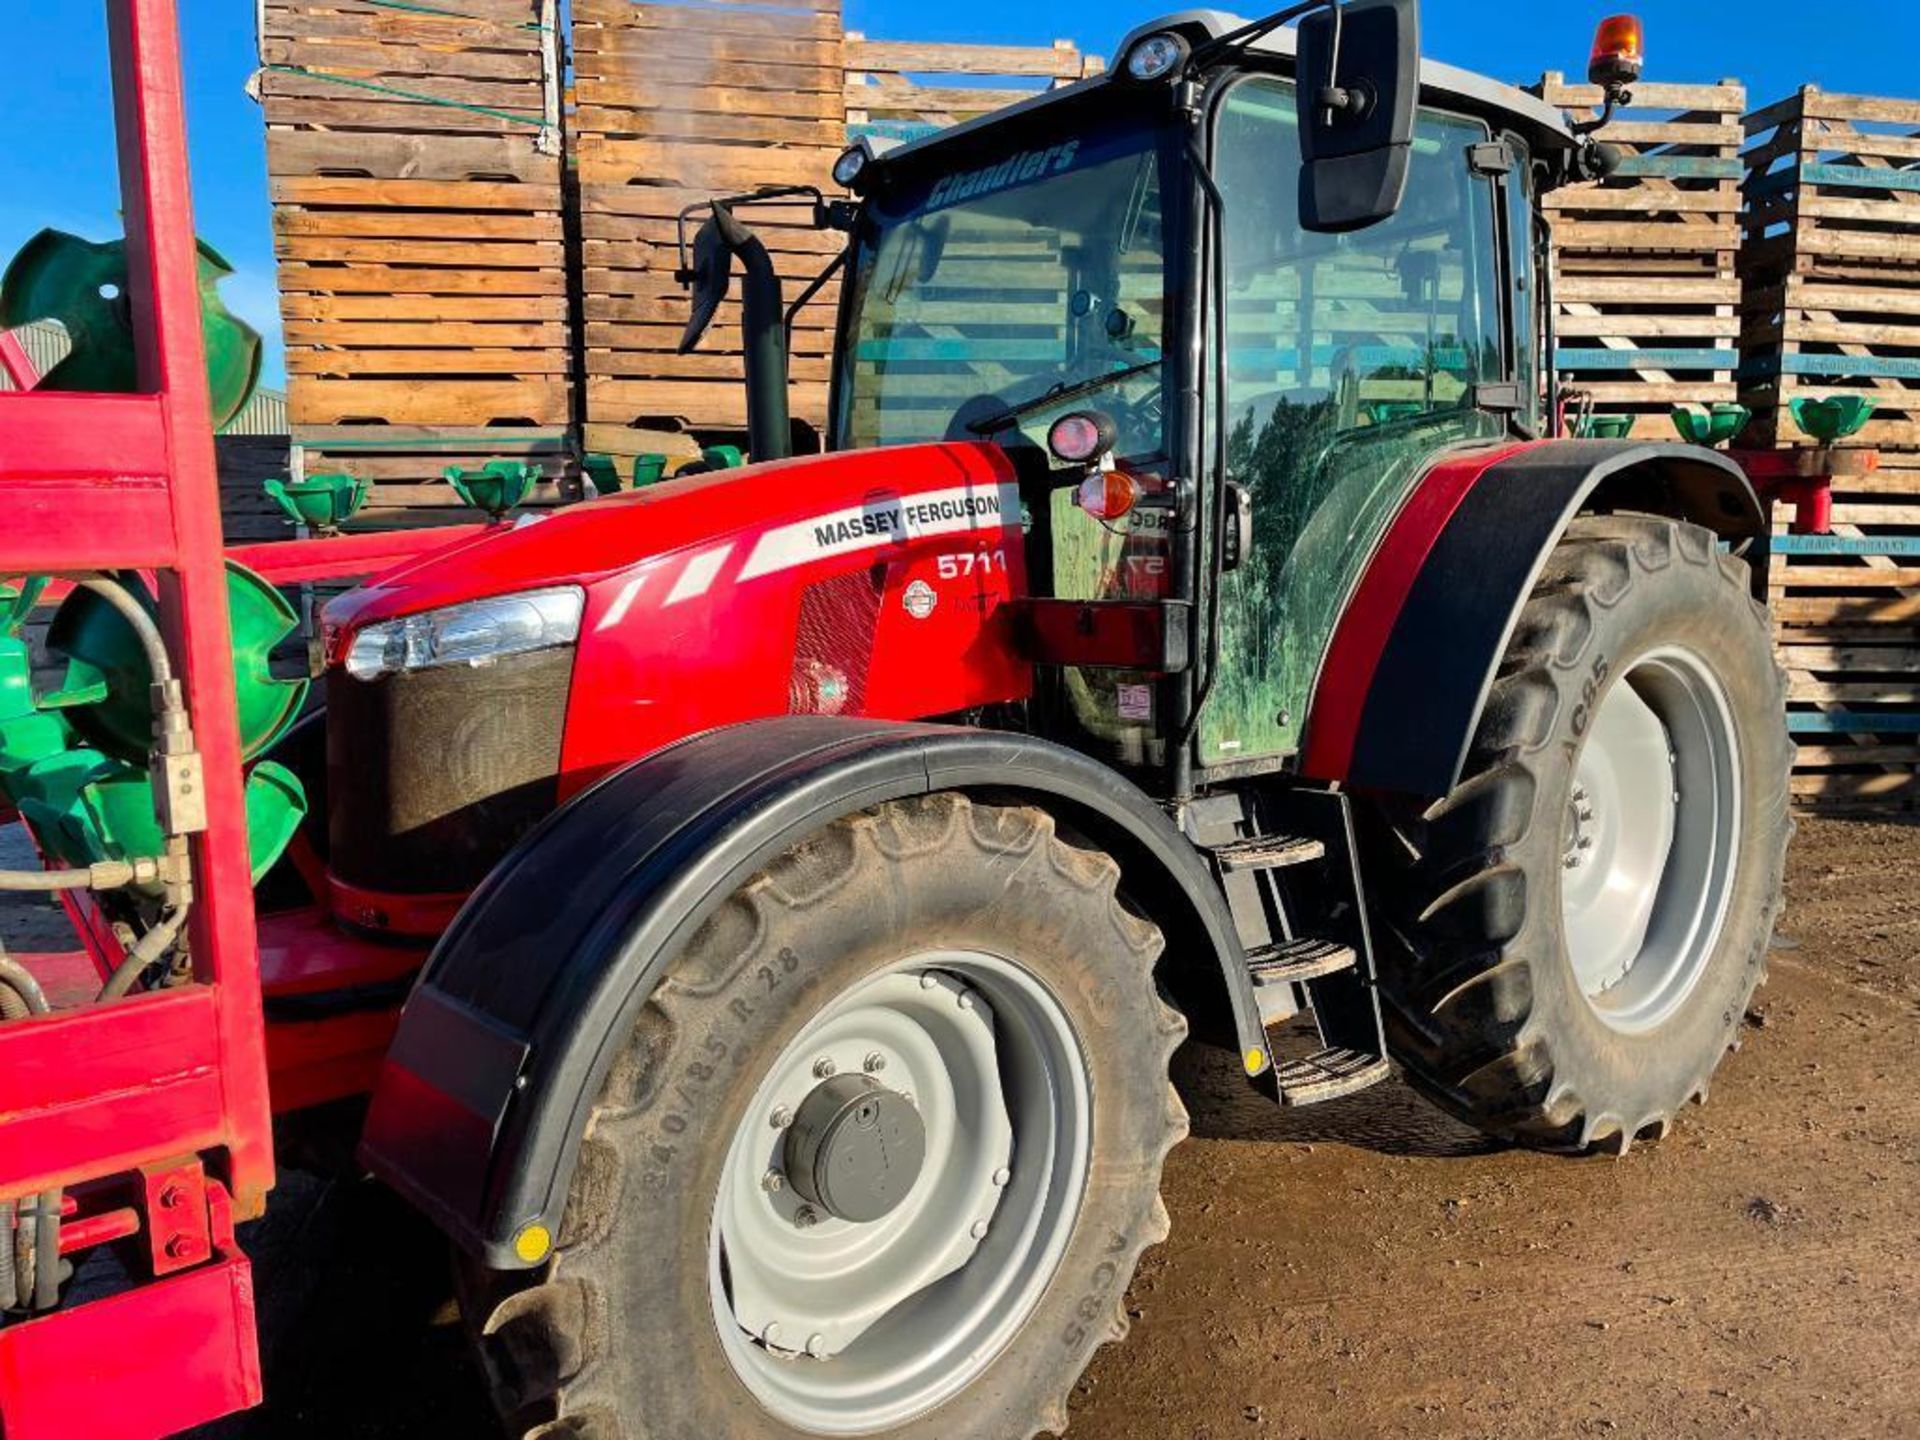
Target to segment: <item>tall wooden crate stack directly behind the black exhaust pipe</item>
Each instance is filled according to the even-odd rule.
[[[772,184],[831,184],[847,146],[839,0],[574,0],[586,447],[685,451],[745,430],[739,286],[707,342],[680,355],[680,215]],[[810,205],[753,207],[793,300],[845,244]],[[699,228],[703,217],[687,225]],[[835,284],[799,317],[791,405],[826,422]],[[804,432],[801,436],[806,438]]]

